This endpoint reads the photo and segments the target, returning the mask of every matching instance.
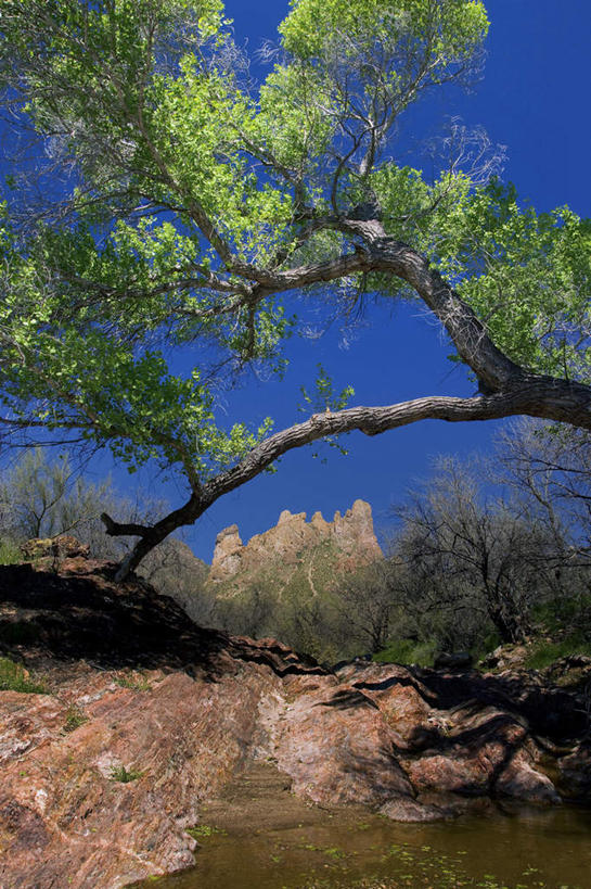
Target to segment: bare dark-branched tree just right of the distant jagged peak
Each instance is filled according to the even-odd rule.
[[[396,556],[423,595],[458,611],[484,608],[504,643],[529,630],[531,605],[552,589],[547,575],[563,547],[518,504],[481,503],[476,473],[440,459],[425,492],[398,509],[403,521]]]

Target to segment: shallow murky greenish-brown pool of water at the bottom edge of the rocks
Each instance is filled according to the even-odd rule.
[[[158,889],[591,887],[591,812],[567,808],[433,824],[326,814],[324,823],[260,831],[252,823],[200,842],[196,866]]]

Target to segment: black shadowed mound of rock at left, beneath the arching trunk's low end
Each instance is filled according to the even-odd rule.
[[[0,567],[0,650],[83,659],[104,670],[188,669],[209,680],[235,672],[236,661],[266,664],[281,676],[324,673],[277,642],[198,627],[144,581],[116,584],[113,573],[114,566],[85,558],[66,559],[59,573],[28,563]]]

